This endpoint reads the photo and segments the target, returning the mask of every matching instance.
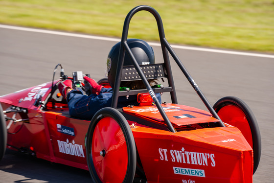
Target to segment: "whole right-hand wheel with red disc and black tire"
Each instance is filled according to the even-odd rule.
[[[233,96],[221,98],[213,108],[223,122],[237,127],[252,147],[254,174],[261,157],[261,135],[251,109],[243,100]]]

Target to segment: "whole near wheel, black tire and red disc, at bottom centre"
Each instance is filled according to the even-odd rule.
[[[108,123],[109,125],[104,126],[104,124],[106,124],[104,123],[104,121],[107,121],[106,123]],[[112,125],[114,125],[114,128]],[[120,133],[116,133],[116,128],[119,130]],[[106,136],[110,138],[104,138]],[[119,138],[119,137],[122,137],[122,138]],[[111,139],[115,139],[115,140],[111,140]],[[112,144],[113,141],[115,142]],[[110,145],[108,146],[112,148],[107,148],[107,146],[104,146],[105,143],[112,144],[112,146]],[[119,146],[120,144],[123,144],[122,147]],[[98,148],[98,146],[100,147]],[[105,147],[105,148],[101,148],[101,147]],[[99,151],[100,153],[98,153]],[[122,156],[124,155],[125,151],[127,154],[127,160],[125,159],[124,156]],[[86,154],[87,154],[87,163],[88,163],[89,171],[91,174],[91,178],[93,179],[93,182],[95,183],[103,183],[103,182],[132,183],[133,182],[135,172],[136,172],[136,160],[137,160],[135,140],[127,120],[116,109],[103,108],[99,110],[92,117],[91,124],[89,126],[88,133],[87,133],[87,139],[86,139]],[[118,170],[119,169],[118,164],[120,163],[119,160],[121,159],[119,159],[119,157],[117,156],[115,156],[115,158],[110,158],[110,157],[113,157],[114,154],[118,154],[122,156],[122,159],[126,160],[127,162],[126,164],[127,166],[123,166],[126,168],[124,168],[124,170],[121,170],[121,172],[124,172],[124,173],[121,173],[122,177],[119,181],[117,180],[115,181],[113,179],[108,179],[108,178],[104,179],[105,177],[101,175],[104,172],[107,172],[109,170],[108,169],[109,167],[117,171],[117,173],[115,172],[113,173],[114,175],[109,175],[109,177],[111,176],[116,177],[116,175],[120,174],[120,170]],[[116,163],[116,159],[119,163]],[[108,163],[110,162],[109,160],[112,160],[112,163]],[[115,160],[115,162],[113,162],[113,160]],[[104,169],[104,170],[101,171],[101,169]],[[100,172],[97,173],[96,171],[100,171]],[[110,172],[113,172],[113,171],[110,171]]]

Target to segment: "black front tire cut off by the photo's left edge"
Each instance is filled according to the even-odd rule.
[[[2,160],[7,145],[7,130],[6,122],[3,114],[2,106],[0,105],[0,161]]]

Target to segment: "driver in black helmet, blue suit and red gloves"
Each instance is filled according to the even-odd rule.
[[[138,39],[128,39],[127,43],[139,65],[155,63],[153,49],[146,42]],[[112,47],[107,60],[108,80],[112,88],[114,87],[115,82],[120,44],[121,43],[119,42]],[[132,64],[130,57],[126,53],[124,66],[129,65]],[[60,82],[58,88],[68,102],[69,114],[71,116],[91,119],[98,110],[104,107],[111,107],[113,89],[104,88],[103,86],[98,85],[93,79],[86,75],[84,75],[84,79],[92,87],[92,94],[89,96],[84,94],[81,89],[72,89],[72,81],[69,79]],[[157,84],[156,80],[149,80],[149,83],[150,85]],[[145,88],[142,81],[121,82],[120,87],[127,87],[131,90]],[[156,96],[161,102],[160,94],[156,93]],[[128,105],[139,105],[137,102],[137,95],[130,95],[128,99],[124,96],[119,97],[117,107],[125,107]]]

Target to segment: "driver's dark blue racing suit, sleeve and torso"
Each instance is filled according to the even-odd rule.
[[[67,95],[69,114],[73,117],[90,120],[100,109],[111,107],[112,96],[112,88],[102,88],[98,95],[91,94],[89,96],[85,95],[81,89],[72,90]],[[160,93],[156,93],[156,96],[161,103]],[[128,105],[139,105],[137,95],[130,95],[128,99],[125,96],[118,98],[118,108]]]

